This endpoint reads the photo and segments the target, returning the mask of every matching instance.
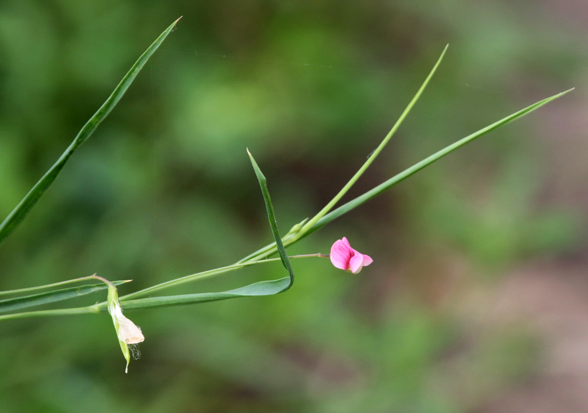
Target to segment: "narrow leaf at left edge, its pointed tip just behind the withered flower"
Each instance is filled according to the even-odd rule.
[[[113,281],[112,284],[119,285],[129,282]],[[0,300],[0,312],[15,311],[17,309],[35,307],[36,305],[49,304],[51,302],[63,301],[69,298],[80,297],[81,295],[92,294],[108,288],[104,283],[81,285],[80,287],[70,287],[56,289],[55,291],[42,292],[40,294],[27,295],[26,297],[16,297]]]

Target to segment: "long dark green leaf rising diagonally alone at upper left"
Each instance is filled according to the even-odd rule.
[[[169,26],[165,31],[153,42],[151,46],[139,57],[139,59],[135,62],[135,64],[131,67],[131,70],[122,78],[122,81],[116,86],[112,94],[106,99],[106,102],[100,106],[98,111],[83,125],[83,128],[78,132],[78,135],[75,137],[74,141],[65,149],[65,152],[59,157],[57,162],[49,171],[43,175],[41,179],[32,187],[31,191],[22,198],[22,201],[19,202],[18,205],[12,210],[12,212],[6,217],[6,219],[0,224],[0,242],[4,241],[8,235],[12,233],[18,227],[18,225],[22,222],[22,220],[26,217],[26,215],[31,211],[32,207],[35,206],[36,202],[39,201],[39,198],[45,193],[45,191],[51,186],[53,181],[61,169],[64,168],[65,163],[68,161],[69,157],[74,153],[74,151],[81,145],[88,137],[92,134],[93,131],[96,130],[100,122],[102,122],[106,116],[112,111],[114,106],[121,100],[122,95],[125,94],[126,89],[129,88],[133,80],[135,80],[137,74],[145,63],[148,61],[149,57],[156,51],[159,45],[162,44],[163,40],[170,34],[172,29],[178,23],[179,19],[173,22],[171,26]]]

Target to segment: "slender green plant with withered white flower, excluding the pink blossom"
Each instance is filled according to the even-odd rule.
[[[8,215],[8,217],[6,217],[2,224],[0,224],[0,242],[4,241],[6,237],[8,237],[8,235],[10,235],[16,229],[16,227],[18,227],[18,225],[23,221],[28,212],[31,211],[31,209],[35,206],[36,202],[39,201],[41,196],[55,181],[59,172],[62,170],[62,168],[64,168],[66,162],[72,156],[72,154],[74,154],[75,150],[79,147],[79,145],[81,145],[83,142],[86,141],[86,139],[89,138],[89,136],[93,133],[93,131],[95,131],[95,129],[103,121],[103,119],[105,119],[106,116],[112,111],[114,106],[119,102],[119,100],[122,98],[122,95],[125,94],[126,90],[129,88],[133,80],[136,78],[139,71],[141,71],[141,69],[146,64],[151,55],[156,51],[156,49],[159,48],[159,46],[166,39],[166,37],[172,32],[173,28],[175,28],[178,21],[173,22],[173,24],[169,26],[156,39],[156,41],[153,42],[153,44],[149,46],[149,48],[139,57],[139,59],[131,67],[129,72],[123,77],[122,81],[118,84],[118,86],[116,86],[116,88],[109,96],[109,98],[106,100],[106,102],[104,102],[104,104],[98,109],[98,111],[92,116],[92,118],[90,118],[89,121],[86,122],[86,124],[75,137],[71,145],[69,145],[65,152],[59,157],[58,161],[56,161],[55,164],[49,169],[49,171],[47,171],[46,174],[42,176],[41,179],[39,179],[39,181],[32,187],[31,191],[29,191],[28,194],[25,195],[22,201],[19,202],[18,205],[16,205],[16,207]],[[515,119],[518,119],[521,116],[534,111],[535,109],[540,108],[541,106],[549,103],[553,99],[559,98],[560,96],[572,90],[570,89],[569,91],[565,91],[560,94],[550,96],[549,98],[543,99],[542,101],[527,106],[527,108],[515,112],[512,115],[506,116],[505,118],[500,119],[499,121],[496,121],[493,124],[490,124],[489,126],[486,126],[485,128],[482,128],[479,131],[476,131],[473,134],[470,134],[449,146],[446,146],[446,148],[441,149],[440,151],[436,152],[433,155],[430,155],[429,157],[406,169],[405,171],[393,176],[392,178],[388,179],[382,184],[377,185],[370,191],[365,192],[365,194],[358,196],[357,198],[347,202],[346,204],[341,205],[338,208],[335,208],[336,204],[338,204],[340,199],[342,199],[343,195],[345,195],[349,191],[349,189],[358,181],[360,176],[362,176],[362,174],[366,171],[370,164],[372,164],[376,156],[380,154],[380,152],[385,147],[387,142],[389,142],[390,138],[392,138],[393,134],[395,134],[397,129],[405,120],[406,116],[409,114],[410,110],[416,104],[416,101],[419,99],[420,95],[422,95],[427,84],[429,84],[429,81],[430,79],[432,79],[433,74],[435,74],[435,71],[439,66],[440,62],[442,61],[446,51],[447,47],[443,50],[435,66],[433,66],[433,69],[426,77],[422,86],[420,86],[416,95],[406,106],[406,109],[402,112],[399,119],[396,121],[395,125],[393,125],[392,129],[390,129],[390,132],[385,136],[380,145],[376,148],[372,155],[369,156],[367,161],[362,165],[358,172],[356,172],[356,174],[352,176],[349,182],[345,186],[343,186],[342,189],[340,189],[340,191],[333,197],[333,199],[330,202],[328,202],[328,204],[323,209],[321,209],[318,212],[318,214],[316,214],[312,218],[303,219],[303,221],[292,227],[290,231],[288,231],[288,233],[283,237],[279,234],[275,212],[273,210],[273,205],[270,199],[268,186],[266,184],[266,178],[260,170],[255,159],[248,151],[250,162],[253,166],[256,177],[258,178],[263,199],[265,201],[268,221],[274,238],[274,242],[272,242],[272,244],[266,245],[265,247],[258,249],[258,251],[255,251],[252,254],[246,256],[245,258],[240,259],[235,264],[228,265],[226,267],[211,269],[208,271],[198,272],[196,274],[186,275],[185,277],[181,278],[172,279],[161,284],[153,285],[151,287],[141,289],[136,292],[132,292],[131,294],[122,295],[121,297],[118,297],[118,292],[116,291],[115,286],[122,284],[123,282],[128,282],[128,280],[111,282],[96,275],[76,278],[68,281],[55,282],[53,284],[41,285],[38,287],[2,291],[0,292],[0,294],[2,295],[19,295],[19,297],[7,298],[0,301],[0,312],[8,313],[0,315],[0,320],[27,317],[44,317],[48,315],[89,314],[108,311],[112,315],[123,354],[125,355],[125,358],[128,362],[130,358],[128,345],[138,341],[135,341],[135,338],[131,340],[126,339],[124,335],[121,335],[121,328],[124,328],[121,327],[121,325],[124,326],[127,322],[130,322],[128,319],[126,319],[126,317],[122,315],[122,309],[146,309],[168,307],[172,305],[196,304],[201,302],[217,301],[229,298],[273,295],[284,292],[290,287],[292,287],[295,278],[292,265],[290,264],[290,258],[328,257],[321,254],[306,254],[297,255],[295,257],[289,257],[286,254],[286,247],[294,244],[295,242],[298,242],[300,239],[306,237],[307,235],[312,234],[312,232],[316,231],[319,228],[322,228],[330,221],[333,221],[333,219],[339,218],[346,212],[349,212],[352,209],[358,207],[359,205],[362,205],[366,201],[369,201],[369,199],[372,199],[375,196],[381,194],[382,192],[391,188],[393,185],[396,185],[398,182],[403,181],[410,175],[415,174],[417,171],[420,171],[420,169],[425,168],[426,166],[437,161],[437,159],[442,158],[443,156],[454,151],[455,149],[460,148],[461,146],[473,141],[474,139],[479,138],[480,136],[485,135],[496,128],[499,128],[500,126],[506,125],[507,123],[514,121]],[[279,258],[267,258],[276,253],[279,255]],[[187,282],[192,282],[199,279],[215,277],[216,275],[225,274],[229,271],[235,271],[244,267],[273,261],[281,261],[283,267],[288,272],[288,276],[269,281],[259,281],[253,284],[246,285],[245,287],[230,289],[228,291],[223,292],[201,292],[196,294],[139,298],[147,294],[151,295],[155,292],[159,292],[165,288],[185,284]],[[89,281],[91,279],[100,279],[105,284],[89,284],[78,287],[55,289],[55,287],[62,287],[64,285],[75,284],[82,281]],[[39,311],[22,311],[23,309],[35,307],[38,305],[64,301],[72,297],[78,297],[79,295],[91,294],[104,288],[108,288],[108,299],[106,301],[99,302],[97,304],[90,305],[87,307],[46,309]],[[48,291],[38,292],[37,294],[33,295],[21,295],[22,293],[41,290]],[[132,326],[134,326],[134,324],[132,324]],[[129,328],[132,328],[132,326]],[[142,340],[142,335],[140,338],[137,338],[136,340]]]

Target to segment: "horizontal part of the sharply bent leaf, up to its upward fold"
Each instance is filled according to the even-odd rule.
[[[290,288],[292,281],[290,277],[273,279],[272,281],[260,281],[236,289],[223,292],[202,292],[199,294],[169,295],[166,297],[149,297],[129,299],[121,301],[121,307],[129,309],[145,309],[157,307],[169,307],[171,305],[197,304],[220,299],[239,297],[259,297],[262,295],[273,295],[286,291]],[[101,308],[102,309],[102,308]]]

